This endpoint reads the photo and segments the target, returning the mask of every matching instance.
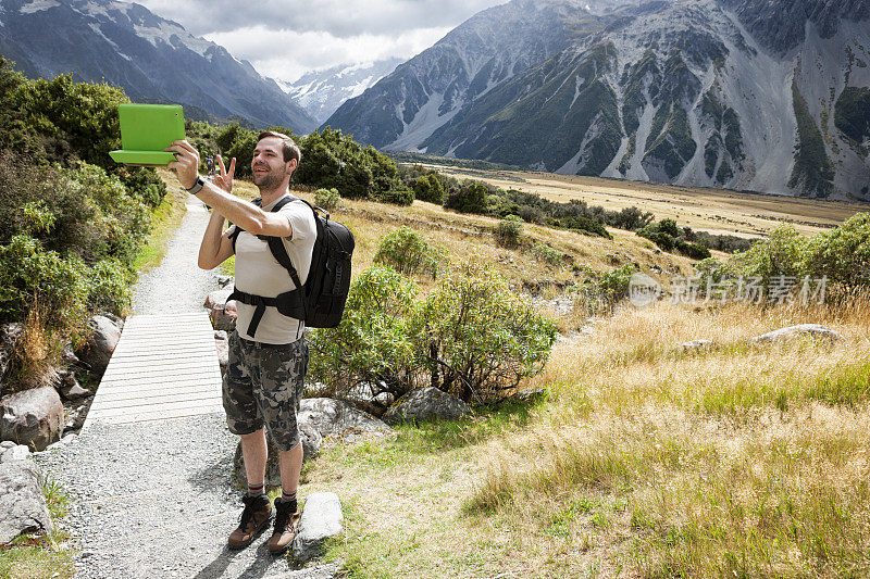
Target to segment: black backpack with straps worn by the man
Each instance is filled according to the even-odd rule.
[[[279,211],[287,203],[298,198],[284,197],[272,207],[272,212]],[[265,313],[268,306],[276,307],[285,316],[301,319],[306,326],[312,328],[334,328],[341,322],[341,314],[345,311],[345,302],[350,289],[350,256],[353,253],[353,235],[350,230],[338,222],[330,221],[328,212],[314,207],[300,199],[306,205],[311,207],[314,213],[314,223],[318,237],[314,240],[314,248],[311,254],[311,268],[304,285],[299,282],[299,275],[287,255],[284,242],[279,237],[257,236],[269,243],[269,250],[295,284],[295,289],[286,291],[275,298],[263,298],[253,295],[233,288],[233,293],[227,298],[238,302],[253,305],[257,309],[253,317],[248,325],[247,333],[253,337],[257,333],[257,326]],[[256,205],[261,205],[260,198],[254,199]],[[319,213],[320,212],[320,213]],[[323,213],[323,215],[321,215]],[[236,247],[236,238],[244,231],[236,225],[235,231],[229,235],[233,241],[233,249]]]

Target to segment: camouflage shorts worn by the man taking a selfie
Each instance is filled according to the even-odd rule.
[[[249,435],[265,426],[276,449],[299,443],[296,413],[308,370],[304,338],[273,345],[229,336],[229,364],[224,374],[226,424],[235,435]]]

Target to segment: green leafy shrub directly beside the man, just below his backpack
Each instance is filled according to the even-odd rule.
[[[312,332],[311,376],[337,395],[355,388],[399,397],[414,383],[410,320],[417,286],[388,267],[374,266],[351,284],[336,328]]]

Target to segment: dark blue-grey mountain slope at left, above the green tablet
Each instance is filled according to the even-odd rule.
[[[167,101],[216,117],[308,133],[316,122],[271,79],[223,47],[139,4],[0,0],[0,53],[30,77],[73,73],[122,86],[134,101]]]

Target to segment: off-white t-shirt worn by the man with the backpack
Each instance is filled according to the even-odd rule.
[[[311,252],[318,237],[316,224],[311,207],[301,199],[289,197],[293,201],[281,207],[277,214],[289,219],[293,236],[284,238],[282,241],[287,249],[287,255],[290,256],[290,262],[296,267],[299,281],[304,284],[311,267]],[[281,199],[283,198],[264,206],[263,211],[270,211]],[[290,274],[269,251],[269,243],[248,231],[240,232],[236,239],[236,288],[253,295],[274,298],[279,293],[290,291],[294,287]],[[275,307],[266,307],[260,325],[257,327],[257,338],[254,338],[248,336],[246,330],[257,307],[236,302],[236,309],[238,311],[236,330],[246,340],[263,343],[289,343],[298,340],[304,329],[302,320],[282,315]]]

